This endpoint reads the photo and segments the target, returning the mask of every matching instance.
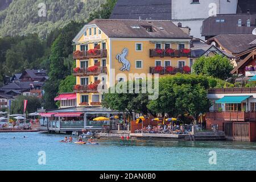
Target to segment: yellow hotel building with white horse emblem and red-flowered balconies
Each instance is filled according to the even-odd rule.
[[[170,20],[95,19],[85,24],[73,39],[77,107],[101,105],[100,81],[109,87],[126,81],[129,73],[188,73],[191,39]]]

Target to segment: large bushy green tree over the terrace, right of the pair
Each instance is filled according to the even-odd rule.
[[[196,118],[197,114],[204,113],[210,107],[208,88],[207,76],[177,74],[162,77],[159,79],[159,97],[150,101],[147,107],[156,113],[167,113],[170,117],[189,113]]]

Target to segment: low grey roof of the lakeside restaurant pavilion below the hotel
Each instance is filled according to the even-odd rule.
[[[111,109],[106,109],[105,107],[69,107],[65,109],[55,109],[55,110],[47,110],[50,113],[65,113],[65,112],[98,112],[98,113],[109,113],[109,112],[117,112]]]

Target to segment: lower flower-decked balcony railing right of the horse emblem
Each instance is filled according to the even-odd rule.
[[[189,67],[186,67],[187,69]],[[167,67],[162,67],[162,70],[156,70],[156,67],[150,67],[150,73],[154,74],[154,73],[158,73],[160,75],[164,75],[164,74],[170,74],[170,75],[175,75],[176,73],[191,73],[191,69],[189,68],[189,70],[184,70],[184,67],[172,67],[171,70],[168,70]]]

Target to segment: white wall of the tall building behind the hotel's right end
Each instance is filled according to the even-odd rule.
[[[203,20],[213,14],[236,14],[238,0],[172,0],[172,20],[175,24],[181,22],[183,27],[191,28],[191,35],[201,38]]]

